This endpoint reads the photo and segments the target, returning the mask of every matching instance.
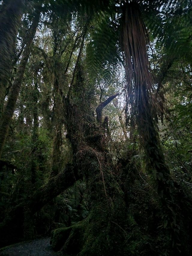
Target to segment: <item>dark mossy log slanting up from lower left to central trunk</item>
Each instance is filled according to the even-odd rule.
[[[26,213],[30,218],[39,211],[43,206],[49,203],[64,190],[72,186],[81,176],[78,175],[77,169],[67,165],[64,171],[56,177],[49,179],[46,185],[39,188],[31,197],[23,200],[15,206],[7,217],[0,224],[0,246],[15,242],[23,236],[23,221]]]

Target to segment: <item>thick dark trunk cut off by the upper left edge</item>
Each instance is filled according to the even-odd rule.
[[[4,107],[6,86],[13,68],[14,47],[23,13],[24,0],[7,0],[0,12],[0,117]]]

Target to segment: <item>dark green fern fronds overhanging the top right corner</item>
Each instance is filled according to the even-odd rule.
[[[144,14],[151,38],[157,40],[157,49],[167,56],[188,58],[192,52],[192,6],[190,1],[161,1],[159,7]]]

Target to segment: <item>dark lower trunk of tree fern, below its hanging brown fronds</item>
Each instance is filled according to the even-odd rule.
[[[160,226],[171,239],[166,239],[163,246],[170,248],[173,255],[178,254],[178,251],[185,251],[187,236],[190,237],[190,197],[170,173],[147,97],[145,107],[142,104],[138,107],[137,127],[146,153],[147,170],[157,189],[157,200],[161,207],[158,212]],[[186,234],[186,240],[182,239],[183,233]]]

